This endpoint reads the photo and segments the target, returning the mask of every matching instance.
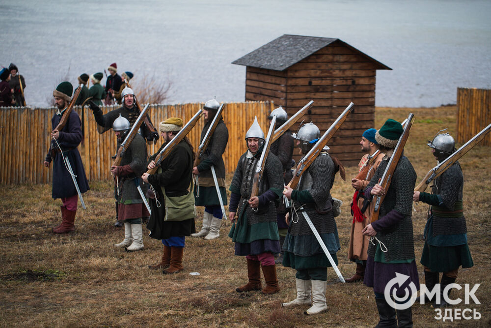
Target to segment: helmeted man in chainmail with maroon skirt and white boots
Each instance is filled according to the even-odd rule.
[[[130,131],[130,121],[119,116],[112,123],[112,129],[119,149]],[[124,240],[114,246],[125,247],[130,252],[143,249],[142,218],[150,216],[137,189],[142,182],[140,176],[146,160],[145,140],[136,133],[131,144],[127,145],[120,165],[111,166],[118,197],[118,220],[124,222]]]

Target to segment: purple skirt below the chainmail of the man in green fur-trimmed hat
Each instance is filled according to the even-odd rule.
[[[375,262],[373,257],[368,256],[363,283],[367,287],[373,287],[375,293],[383,294],[385,286],[391,279],[396,277],[396,272],[409,276],[409,279],[401,287],[395,284],[398,288],[396,290],[398,297],[406,295],[406,288],[410,291],[408,285],[411,282],[414,283],[416,290],[419,291],[419,276],[415,260],[412,260],[411,263],[381,263]]]

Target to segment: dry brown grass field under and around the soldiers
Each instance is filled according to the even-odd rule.
[[[456,109],[377,108],[376,126],[389,117],[402,120],[409,111],[416,120],[406,155],[419,182],[435,165],[426,141],[444,127],[455,134]],[[445,326],[490,324],[489,162],[489,148],[479,146],[461,160],[474,267],[462,269],[457,282],[481,284],[476,293],[481,305],[472,307],[483,317],[479,321],[445,322]],[[347,177],[354,176],[355,170],[347,168]],[[216,240],[186,239],[183,272],[164,276],[160,271],[149,270],[147,265],[156,263],[162,255],[161,242],[145,236],[143,251],[125,253],[115,249],[112,244],[121,241],[123,233],[112,227],[114,202],[110,183],[92,182],[90,186],[92,190],[85,194],[87,209],[80,209],[77,214],[76,232],[63,236],[50,233],[59,220],[60,201],[51,199],[49,185],[0,186],[2,327],[373,327],[378,322],[372,290],[360,283],[338,283],[331,269],[327,286],[329,310],[321,315],[304,316],[304,308],[281,308],[281,301],[295,296],[295,272],[290,268],[278,267],[278,294],[236,293],[235,287],[246,281],[246,263],[243,257],[233,255],[233,243],[227,237],[228,221]],[[343,213],[337,218],[341,241],[338,258],[341,272],[349,277],[355,269],[346,259],[352,188],[337,178],[332,194],[344,202]],[[415,207],[414,242],[419,263],[427,207]],[[197,221],[200,227],[201,222]],[[424,282],[421,265],[418,268]],[[191,271],[200,275],[191,276]],[[463,292],[455,295],[463,298]],[[428,306],[413,306],[416,327],[442,326],[434,316]]]

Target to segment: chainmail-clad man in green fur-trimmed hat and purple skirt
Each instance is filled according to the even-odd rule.
[[[408,276],[405,283],[396,290],[398,298],[407,297],[406,288],[409,284],[414,284],[416,290],[419,290],[411,220],[416,172],[409,159],[402,154],[388,189],[384,190],[378,183],[402,132],[401,123],[387,119],[375,134],[380,150],[386,155],[365,189],[365,197],[369,199],[373,195],[385,194],[379,209],[379,219],[362,231],[371,238],[363,283],[373,287],[380,317],[379,327],[412,327],[411,307],[396,311],[384,297],[385,286],[396,278],[396,273]]]

